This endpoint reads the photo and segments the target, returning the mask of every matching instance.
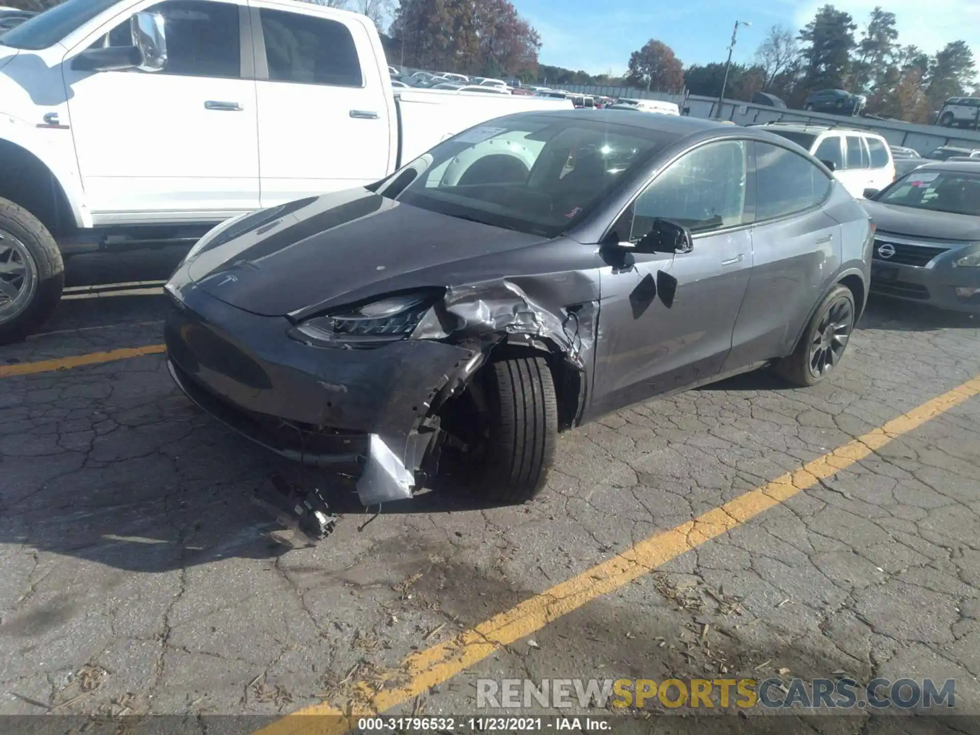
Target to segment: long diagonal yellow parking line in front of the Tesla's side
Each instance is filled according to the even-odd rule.
[[[328,705],[304,708],[258,730],[255,735],[325,735],[346,732],[356,725],[358,716],[383,712],[412,700],[429,688],[442,684],[466,668],[483,661],[503,646],[540,630],[586,603],[613,592],[681,554],[786,502],[820,480],[854,465],[893,439],[978,394],[980,376],[927,401],[903,416],[893,418],[883,426],[794,472],[787,472],[694,520],[651,536],[613,559],[596,564],[449,641],[413,654],[400,667],[387,671],[382,676],[389,682],[390,688],[386,686],[375,693],[376,681],[360,682],[356,686],[356,691],[363,695],[361,699],[368,704],[351,705],[346,712]]]

